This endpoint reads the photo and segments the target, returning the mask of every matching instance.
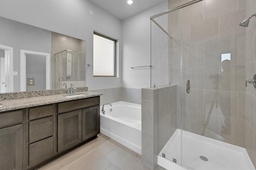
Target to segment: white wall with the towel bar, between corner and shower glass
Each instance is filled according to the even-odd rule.
[[[145,67],[132,69],[130,67],[150,65],[150,17],[165,10],[168,10],[167,0],[161,4],[158,4],[157,6],[122,21],[123,87],[150,87],[150,68]],[[167,37],[166,42],[164,43],[167,43]],[[167,54],[166,57],[168,57]],[[168,71],[166,74],[168,74]]]

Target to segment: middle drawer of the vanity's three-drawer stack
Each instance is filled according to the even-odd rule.
[[[33,143],[53,135],[53,116],[28,123],[28,142]]]

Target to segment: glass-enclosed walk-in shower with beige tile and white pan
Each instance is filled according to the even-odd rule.
[[[164,168],[255,169],[255,110],[247,113],[255,103],[246,88],[254,89],[245,86],[254,70],[246,76],[246,28],[238,25],[246,7],[224,1],[216,10],[192,0],[150,18],[153,150]]]

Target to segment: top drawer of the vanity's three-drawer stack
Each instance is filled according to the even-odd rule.
[[[34,107],[28,109],[28,119],[37,119],[40,117],[51,116],[54,113],[54,105]]]

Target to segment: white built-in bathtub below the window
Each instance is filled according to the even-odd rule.
[[[120,101],[104,106],[104,110],[100,133],[141,154],[141,105]]]

